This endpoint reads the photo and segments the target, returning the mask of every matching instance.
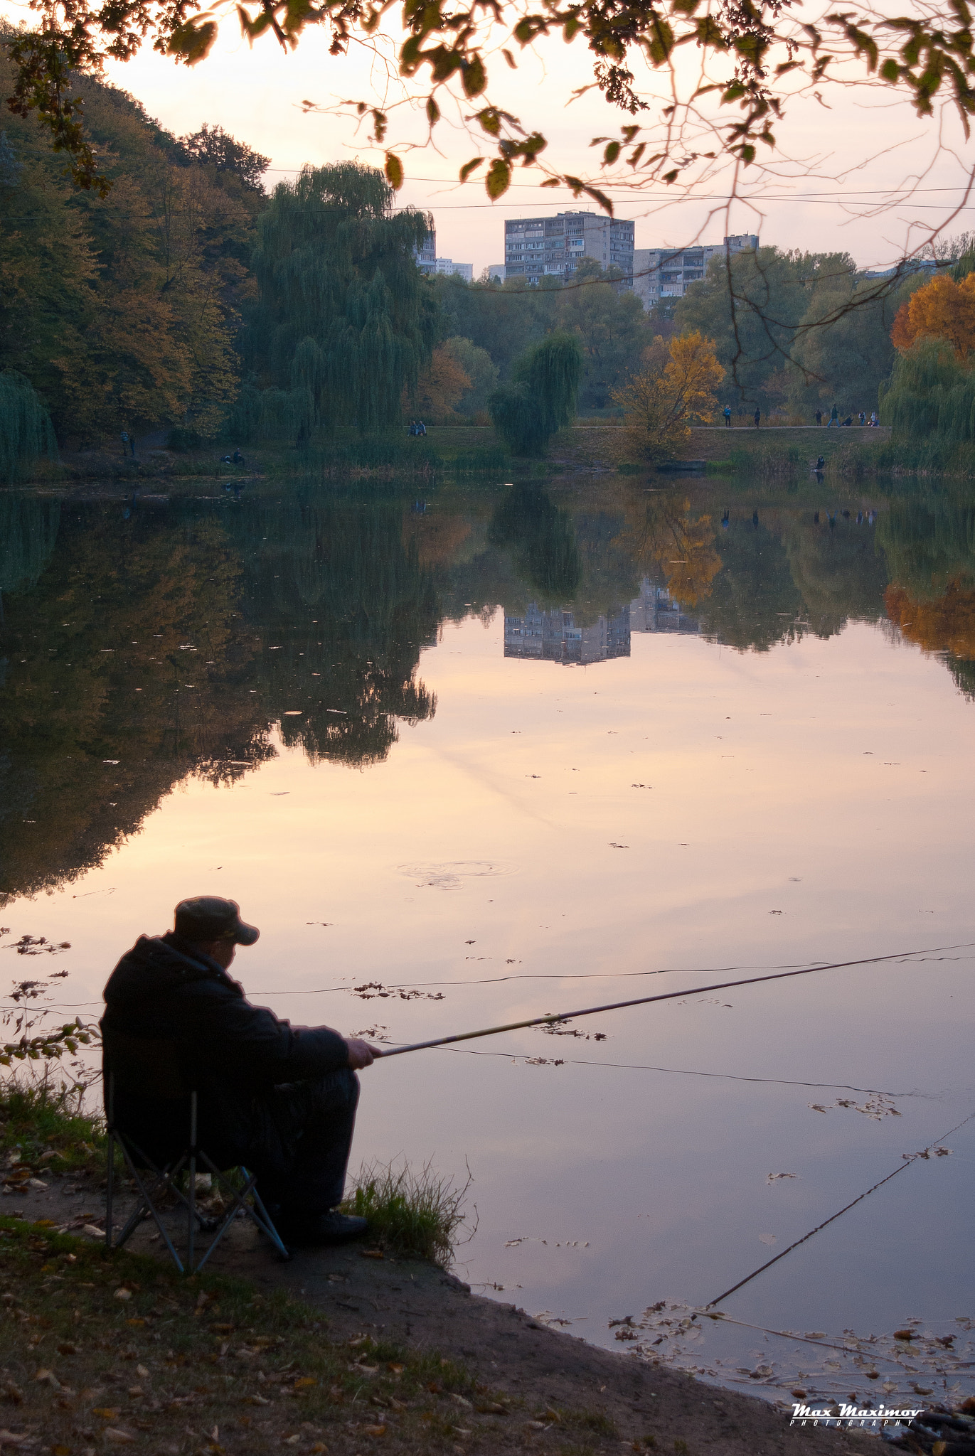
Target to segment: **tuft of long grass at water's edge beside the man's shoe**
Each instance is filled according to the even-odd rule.
[[[453,1255],[456,1232],[465,1220],[461,1211],[471,1179],[458,1188],[426,1163],[414,1172],[408,1163],[370,1163],[342,1208],[369,1219],[373,1238],[408,1258],[430,1259],[446,1267]]]

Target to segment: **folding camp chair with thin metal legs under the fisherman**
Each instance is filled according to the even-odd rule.
[[[115,1070],[105,1067],[105,1112],[108,1120],[108,1188],[105,1200],[105,1246],[121,1249],[128,1242],[134,1230],[146,1219],[152,1219],[165,1241],[173,1262],[181,1274],[192,1274],[207,1262],[222,1238],[236,1217],[249,1219],[255,1227],[273,1243],[283,1259],[290,1259],[290,1251],[281,1242],[281,1236],[274,1227],[261,1195],[257,1190],[257,1174],[240,1168],[243,1187],[236,1188],[227,1176],[227,1169],[217,1168],[207,1150],[197,1142],[197,1108],[195,1089],[189,1092],[189,1127],[188,1137],[182,1147],[173,1152],[166,1160],[153,1160],[138,1143],[124,1133],[115,1121]],[[160,1101],[168,1101],[160,1098]],[[118,1236],[114,1236],[114,1201],[115,1201],[115,1144],[121,1149],[125,1166],[138,1190],[138,1200],[128,1216]],[[213,1187],[229,1195],[230,1204],[217,1217],[205,1217],[197,1207],[197,1174],[208,1172]],[[185,1181],[187,1191],[181,1184]],[[165,1223],[162,1201],[172,1197],[185,1211],[187,1219],[187,1257],[185,1264],[179,1258],[169,1230]],[[210,1245],[205,1254],[197,1259],[197,1233],[210,1235]]]

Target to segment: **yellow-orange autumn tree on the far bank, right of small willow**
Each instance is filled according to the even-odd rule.
[[[643,368],[612,399],[622,406],[630,441],[640,459],[672,456],[689,438],[691,424],[717,408],[714,390],[724,370],[714,344],[694,331],[643,351]]]

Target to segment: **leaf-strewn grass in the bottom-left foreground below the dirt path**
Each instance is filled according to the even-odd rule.
[[[439,1353],[369,1335],[331,1341],[321,1315],[281,1291],[106,1257],[44,1223],[0,1219],[0,1441],[15,1447],[220,1456],[353,1452],[383,1439],[386,1450],[418,1453],[449,1450],[474,1428],[496,1433],[494,1449],[514,1436],[513,1402]]]

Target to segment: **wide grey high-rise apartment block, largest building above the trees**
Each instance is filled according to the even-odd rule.
[[[555,217],[513,217],[504,223],[504,277],[541,282],[568,278],[580,258],[633,277],[634,224],[598,213],[558,213]]]

